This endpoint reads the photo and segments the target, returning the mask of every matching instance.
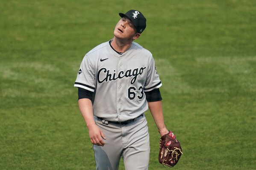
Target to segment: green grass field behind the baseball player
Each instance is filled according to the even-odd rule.
[[[255,0],[1,0],[0,170],[95,169],[73,85],[129,9],[147,18],[136,42],[153,53],[165,124],[182,144],[174,169],[256,169]],[[149,170],[163,170],[146,116]]]

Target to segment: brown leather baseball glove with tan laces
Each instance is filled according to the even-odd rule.
[[[174,133],[169,131],[169,133],[160,138],[160,164],[167,165],[168,167],[174,167],[174,165],[179,161],[181,154],[182,149]]]

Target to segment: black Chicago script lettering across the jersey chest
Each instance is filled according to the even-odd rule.
[[[134,84],[137,80],[138,75],[141,75],[143,73],[144,69],[146,69],[146,66],[141,67],[140,69],[139,68],[128,69],[125,72],[120,71],[118,73],[116,72],[116,70],[113,70],[113,73],[109,73],[109,69],[101,68],[98,71],[97,80],[98,80],[98,83],[103,83],[104,81],[105,82],[115,81],[118,78],[121,79],[121,78],[124,78],[124,77],[127,77],[127,78],[128,77],[133,77],[130,83]]]

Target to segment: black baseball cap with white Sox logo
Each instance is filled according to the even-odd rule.
[[[119,13],[120,17],[127,17],[129,18],[133,25],[136,27],[138,33],[142,33],[146,28],[146,18],[144,15],[137,11],[137,10],[129,10],[127,13]]]

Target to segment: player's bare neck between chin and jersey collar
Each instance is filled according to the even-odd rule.
[[[124,40],[114,37],[111,45],[118,52],[126,52],[132,45],[132,40]]]

